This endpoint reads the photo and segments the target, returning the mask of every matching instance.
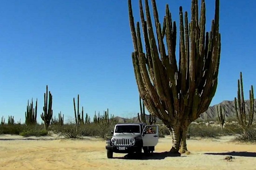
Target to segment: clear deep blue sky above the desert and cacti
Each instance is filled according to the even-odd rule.
[[[215,0],[205,1],[209,31]],[[166,4],[177,24],[179,6],[190,18],[191,0],[156,3],[161,21]],[[132,4],[140,21],[138,0]],[[211,105],[236,97],[240,71],[245,98],[250,85],[256,85],[255,6],[254,0],[220,2],[221,64]],[[128,0],[2,0],[0,11],[0,117],[13,115],[24,122],[31,98],[38,98],[41,114],[46,85],[54,115],[61,111],[65,121],[74,118],[77,94],[91,117],[107,108],[125,118],[139,112]],[[37,119],[41,122],[40,115]]]

